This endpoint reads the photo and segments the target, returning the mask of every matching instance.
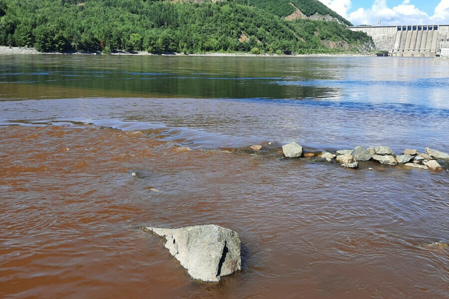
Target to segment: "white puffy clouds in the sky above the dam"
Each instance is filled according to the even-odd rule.
[[[449,23],[449,0],[441,0],[437,7],[435,7],[434,15],[431,16],[415,4],[412,4],[411,2],[414,0],[404,0],[401,4],[394,7],[389,7],[387,0],[375,0],[371,8],[358,8],[352,12],[350,12],[351,0],[319,1],[355,25],[376,25],[378,20],[381,20],[383,25]]]

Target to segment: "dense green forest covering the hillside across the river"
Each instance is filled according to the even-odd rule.
[[[285,20],[294,11],[290,2],[307,15],[341,18],[317,0],[0,0],[0,44],[43,52],[255,54],[355,51],[371,44],[365,33],[337,22]]]

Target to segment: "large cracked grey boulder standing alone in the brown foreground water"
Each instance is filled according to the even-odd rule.
[[[241,269],[240,237],[233,230],[218,225],[144,230],[165,238],[165,247],[193,279],[220,282],[222,276]]]

